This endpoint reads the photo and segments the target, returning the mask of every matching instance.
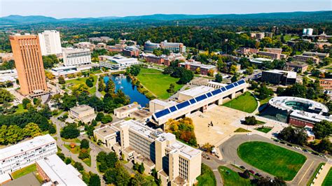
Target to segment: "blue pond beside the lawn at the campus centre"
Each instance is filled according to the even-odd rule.
[[[143,107],[148,104],[149,100],[144,94],[141,94],[141,92],[137,90],[136,85],[132,85],[132,80],[130,78],[117,75],[105,76],[104,82],[106,84],[109,82],[109,78],[111,78],[111,80],[113,80],[114,84],[116,85],[116,92],[118,90],[122,90],[127,96],[130,97],[130,103],[136,101]]]

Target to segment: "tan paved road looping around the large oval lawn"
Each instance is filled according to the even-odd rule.
[[[327,162],[327,159],[324,159],[322,157],[318,157],[312,154],[309,154],[307,152],[303,152],[302,150],[296,150],[295,148],[289,147],[287,145],[276,143],[275,141],[272,141],[269,138],[265,138],[263,136],[258,136],[256,134],[254,135],[235,135],[232,138],[229,138],[227,141],[225,141],[223,144],[219,146],[221,150],[221,154],[223,155],[223,160],[226,162],[232,163],[232,164],[238,164],[240,166],[244,166],[247,169],[251,169],[255,172],[261,173],[263,176],[270,176],[273,178],[274,176],[271,176],[269,173],[265,173],[259,169],[256,169],[254,166],[251,166],[240,159],[240,157],[237,156],[237,147],[247,141],[264,141],[268,143],[272,143],[278,146],[281,146],[283,148],[287,148],[289,150],[293,150],[296,152],[299,152],[302,155],[305,155],[307,157],[307,161],[305,164],[303,164],[300,171],[298,171],[298,174],[296,175],[293,180],[287,182],[288,185],[307,185],[307,181],[312,176],[312,173],[317,169],[317,166],[321,162]]]

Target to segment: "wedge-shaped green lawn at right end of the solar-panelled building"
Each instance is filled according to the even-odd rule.
[[[250,92],[246,92],[241,96],[233,99],[232,101],[228,101],[227,103],[223,104],[223,106],[241,110],[246,113],[253,113],[256,110],[258,103],[254,96],[250,94]]]

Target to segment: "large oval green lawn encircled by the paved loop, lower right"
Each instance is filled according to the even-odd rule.
[[[260,141],[242,143],[237,155],[257,169],[286,181],[293,180],[307,159],[298,152]]]

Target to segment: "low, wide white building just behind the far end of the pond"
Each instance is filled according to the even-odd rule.
[[[102,62],[99,62],[99,66],[103,66],[112,70],[123,70],[135,64],[141,64],[136,58],[127,58],[122,55],[115,56],[99,56]]]

